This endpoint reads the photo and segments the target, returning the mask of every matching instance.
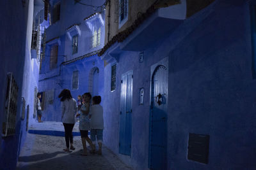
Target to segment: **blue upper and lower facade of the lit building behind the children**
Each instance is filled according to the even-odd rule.
[[[54,4],[54,2],[51,3]],[[87,4],[93,4],[95,6],[101,6],[103,3],[104,1],[87,2]],[[99,10],[94,11],[92,7],[75,4],[74,1],[61,1],[60,6],[60,20],[46,29],[47,43],[45,46],[45,57],[39,76],[38,90],[40,92],[54,90],[53,104],[49,104],[47,101],[44,104],[42,120],[46,121],[61,121],[60,99],[58,98],[61,90],[65,88],[70,89],[74,99],[77,99],[78,95],[88,92],[90,71],[93,67],[99,68],[99,80],[104,79],[104,61],[100,60],[100,57],[97,55],[82,57],[104,46],[104,20],[100,24],[99,17],[97,17],[100,15],[104,19],[104,11],[88,20],[84,20],[84,18],[91,16],[93,13],[99,12]],[[80,34],[74,27],[68,29],[74,24],[79,24]],[[89,26],[90,24],[101,29],[99,46],[92,47],[92,30]],[[68,33],[71,36],[79,34],[77,53],[72,54],[72,39],[68,38]],[[58,44],[58,62],[55,69],[50,69],[51,46],[54,44]],[[77,57],[79,57],[79,60],[76,60]],[[72,90],[73,71],[79,71],[79,87],[77,90]],[[103,88],[103,81],[99,81],[99,94],[102,98],[104,98]]]

